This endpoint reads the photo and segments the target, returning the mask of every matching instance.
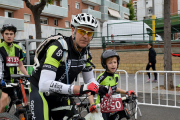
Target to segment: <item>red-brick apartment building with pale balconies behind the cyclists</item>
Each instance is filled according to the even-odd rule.
[[[39,3],[39,0],[29,1],[32,5]],[[128,19],[127,3],[129,0],[53,0],[53,4],[45,6],[40,16],[42,38],[55,34],[55,29],[70,28],[72,17],[78,13],[89,13],[96,17],[100,26],[97,32],[101,32],[104,21]],[[4,23],[17,27],[15,39],[36,38],[32,12],[22,0],[0,0],[0,27]]]

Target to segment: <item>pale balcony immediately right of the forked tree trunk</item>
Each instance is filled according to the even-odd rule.
[[[35,4],[38,3],[39,2]],[[65,18],[68,17],[68,8],[48,4],[48,6],[44,7],[44,10],[42,11],[41,15],[56,17],[56,18]]]

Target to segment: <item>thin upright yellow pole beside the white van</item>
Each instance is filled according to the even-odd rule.
[[[153,41],[155,41],[155,6],[154,6],[154,0],[152,0],[152,36],[153,36]]]

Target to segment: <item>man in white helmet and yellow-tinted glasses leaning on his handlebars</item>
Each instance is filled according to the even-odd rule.
[[[30,106],[34,120],[62,120],[67,111],[51,111],[52,108],[68,105],[61,94],[85,94],[100,92],[106,94],[107,88],[97,86],[92,70],[92,57],[88,48],[93,33],[98,27],[97,20],[90,14],[81,13],[71,20],[72,36],[64,37],[68,46],[67,71],[63,58],[63,45],[54,41],[47,48],[40,60],[40,67],[30,77]],[[88,59],[85,59],[88,55]],[[77,75],[82,72],[84,85],[71,85]],[[67,84],[67,77],[69,84]],[[45,96],[43,92],[56,92],[59,97]],[[93,96],[89,97],[94,103]],[[95,110],[94,110],[95,111]]]

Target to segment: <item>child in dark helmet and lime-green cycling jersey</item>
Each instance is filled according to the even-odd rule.
[[[120,92],[122,94],[131,94],[134,91],[125,91],[117,87],[119,76],[116,74],[116,70],[119,66],[120,57],[114,50],[106,50],[101,55],[101,65],[105,72],[97,77],[97,81],[100,85],[111,86],[113,93]],[[100,103],[100,95],[97,96],[96,104]],[[110,113],[102,113],[104,120],[109,120]]]

